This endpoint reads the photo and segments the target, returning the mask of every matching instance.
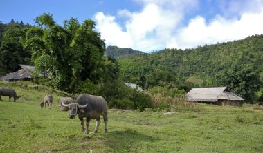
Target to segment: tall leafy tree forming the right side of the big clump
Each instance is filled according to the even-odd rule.
[[[86,20],[75,32],[71,41],[73,76],[75,81],[89,78],[93,83],[100,81],[100,62],[105,52],[105,43],[94,31],[95,23]]]

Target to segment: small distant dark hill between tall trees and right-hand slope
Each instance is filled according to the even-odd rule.
[[[105,54],[110,54],[111,57],[118,58],[128,54],[145,54],[138,50],[133,50],[131,48],[118,48],[117,46],[108,46],[106,48]]]

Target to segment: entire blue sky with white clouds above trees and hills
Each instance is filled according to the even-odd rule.
[[[106,45],[143,52],[243,39],[263,33],[263,0],[1,0],[0,21],[93,19]]]

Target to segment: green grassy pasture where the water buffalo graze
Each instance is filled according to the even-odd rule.
[[[263,152],[263,108],[197,105],[162,111],[109,112],[109,132],[84,134],[78,118],[39,102],[51,90],[20,84],[17,102],[0,101],[0,152]],[[91,121],[91,128],[95,128]]]

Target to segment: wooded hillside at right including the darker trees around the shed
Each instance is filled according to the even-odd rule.
[[[118,59],[120,74],[145,89],[159,85],[188,91],[223,85],[253,103],[263,87],[262,42],[263,34],[186,50],[127,55]]]

